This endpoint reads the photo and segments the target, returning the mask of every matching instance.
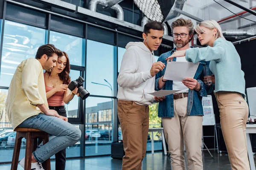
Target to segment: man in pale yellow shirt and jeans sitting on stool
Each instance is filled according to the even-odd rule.
[[[14,129],[35,128],[56,136],[32,153],[31,170],[44,170],[42,162],[81,138],[81,131],[68,123],[66,117],[48,108],[43,69],[52,71],[58,57],[62,57],[62,52],[54,45],[40,46],[35,58],[17,66],[6,99],[6,112]],[[24,163],[23,158],[20,161],[23,168]]]

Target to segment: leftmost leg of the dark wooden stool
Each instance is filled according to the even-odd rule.
[[[21,145],[21,139],[19,138],[19,132],[16,133],[16,139],[14,144],[14,150],[13,150],[13,156],[12,156],[12,167],[11,170],[17,170],[18,167],[18,161],[20,156],[20,145]]]

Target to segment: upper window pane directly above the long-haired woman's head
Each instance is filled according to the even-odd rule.
[[[65,51],[70,59],[71,65],[84,66],[82,60],[82,38],[50,31],[49,43],[54,44],[61,51]]]

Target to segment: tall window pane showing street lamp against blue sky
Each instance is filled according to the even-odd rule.
[[[113,95],[113,45],[87,40],[86,89],[92,95]]]

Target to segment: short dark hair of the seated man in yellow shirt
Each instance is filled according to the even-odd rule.
[[[57,54],[58,57],[62,57],[62,55],[63,55],[62,51],[60,51],[58,48],[56,48],[52,44],[41,45],[38,48],[38,51],[36,52],[35,58],[41,59],[44,54],[46,54],[48,58],[52,57],[53,54]]]

